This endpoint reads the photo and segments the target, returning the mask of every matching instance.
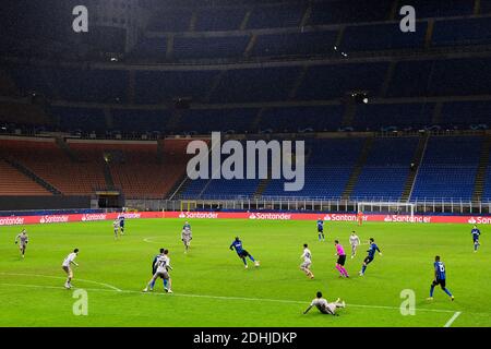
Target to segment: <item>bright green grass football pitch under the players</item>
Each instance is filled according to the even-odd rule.
[[[182,219],[127,220],[115,241],[111,221],[28,226],[22,260],[14,242],[20,227],[0,230],[0,326],[491,326],[491,250],[472,252],[470,226],[327,222],[319,242],[315,221],[191,220],[189,254],[180,241]],[[482,227],[481,227],[482,228]],[[350,251],[356,229],[364,243],[375,238],[383,252],[358,276],[367,245],[348,256],[350,279],[338,278],[333,240]],[[486,228],[483,229],[486,230]],[[244,269],[228,249],[240,236],[260,267]],[[314,279],[299,269],[302,244],[313,255]],[[143,293],[159,248],[169,249],[172,290]],[[63,288],[63,258],[80,249],[74,289]],[[439,254],[447,287],[426,300]],[[74,315],[74,290],[87,292],[88,314]],[[400,292],[414,290],[416,315],[403,316]],[[316,309],[302,315],[318,290],[328,301],[342,298],[339,316]]]

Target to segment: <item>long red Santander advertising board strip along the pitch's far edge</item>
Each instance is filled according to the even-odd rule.
[[[120,213],[39,215],[0,217],[0,226],[22,226],[73,221],[113,220]],[[318,220],[319,214],[286,213],[216,213],[216,212],[142,212],[125,213],[127,219],[141,218],[181,218],[181,219],[251,219],[251,220]],[[324,214],[325,221],[357,221],[355,214]],[[408,215],[364,215],[364,221],[420,222],[420,224],[476,224],[491,225],[491,217],[483,216],[414,216]]]

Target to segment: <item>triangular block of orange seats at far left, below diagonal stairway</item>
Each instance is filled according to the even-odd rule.
[[[24,195],[49,195],[45,186],[26,176],[14,166],[0,159],[0,195],[24,196]],[[51,193],[52,194],[52,193]]]

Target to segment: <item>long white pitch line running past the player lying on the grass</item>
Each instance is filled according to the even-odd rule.
[[[47,288],[47,289],[64,289],[64,287],[61,287],[61,286],[3,284],[3,282],[1,282],[0,286]],[[76,289],[76,288],[74,287],[73,289]],[[100,291],[100,292],[113,292],[115,291],[115,290],[110,290],[110,289],[100,289],[100,288],[93,288],[93,289],[84,288],[84,289],[87,290],[87,291]],[[144,294],[142,291],[135,291],[135,290],[119,290],[118,292]],[[147,292],[147,293],[155,294],[155,296],[168,296],[167,293],[160,293],[160,292]],[[308,301],[306,302],[306,301],[294,301],[294,300],[286,300],[286,299],[270,299],[270,298],[226,297],[226,296],[207,296],[207,294],[189,294],[189,293],[172,293],[172,296],[173,297],[188,297],[188,298],[219,299],[219,300],[239,300],[239,301],[253,301],[253,302],[290,303],[290,304],[308,304],[309,303]],[[172,297],[172,296],[169,294],[168,297]],[[385,310],[397,310],[397,311],[399,310],[398,306],[386,306],[386,305],[364,305],[364,304],[346,304],[346,305],[354,306],[354,308],[385,309]],[[454,311],[439,310],[439,309],[418,309],[417,311],[432,312],[432,313],[454,313]],[[462,312],[457,312],[457,313],[460,314]]]

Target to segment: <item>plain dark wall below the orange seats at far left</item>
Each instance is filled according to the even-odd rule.
[[[91,196],[0,196],[0,210],[89,207]]]

